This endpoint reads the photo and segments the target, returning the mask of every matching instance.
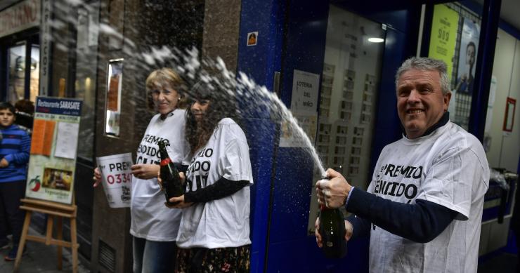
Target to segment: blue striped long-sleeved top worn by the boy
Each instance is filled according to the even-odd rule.
[[[0,132],[0,159],[9,163],[6,168],[0,168],[0,182],[25,182],[31,138],[15,124],[1,128]]]

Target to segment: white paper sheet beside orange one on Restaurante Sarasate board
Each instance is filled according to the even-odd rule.
[[[54,157],[63,157],[65,159],[76,158],[78,133],[79,124],[72,124],[70,122],[58,123],[58,139],[56,140]]]

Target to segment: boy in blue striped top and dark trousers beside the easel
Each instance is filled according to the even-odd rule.
[[[20,199],[25,196],[27,163],[31,139],[15,121],[15,107],[0,102],[0,248],[7,248],[8,227],[13,232],[13,248],[5,260],[15,260],[22,233],[25,211]]]

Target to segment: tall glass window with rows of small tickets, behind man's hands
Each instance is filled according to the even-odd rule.
[[[352,185],[366,189],[370,180],[375,103],[379,90],[384,43],[382,25],[331,5],[325,41],[320,93],[318,154],[325,168],[342,173]],[[372,40],[372,39],[371,39]],[[320,179],[315,176],[314,181]],[[311,198],[308,230],[318,215]]]

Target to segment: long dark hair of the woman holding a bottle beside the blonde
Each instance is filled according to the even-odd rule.
[[[231,118],[237,122],[235,97],[230,95],[221,83],[200,81],[188,91],[190,95],[190,108],[186,111],[186,140],[190,145],[190,154],[195,154],[197,149],[203,147],[212,137],[219,121],[223,118]],[[195,116],[190,111],[195,101],[209,101],[209,106],[200,124],[195,121]]]

